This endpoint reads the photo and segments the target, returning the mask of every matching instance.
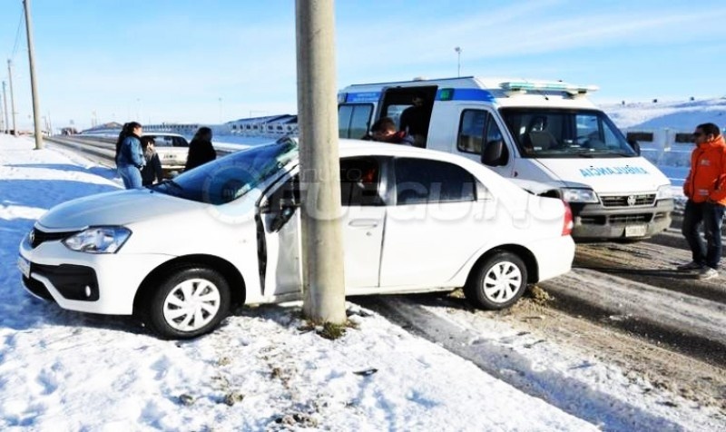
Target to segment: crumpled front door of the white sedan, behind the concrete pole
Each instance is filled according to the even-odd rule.
[[[386,222],[381,178],[381,164],[376,158],[347,158],[340,162],[343,258],[346,287],[352,293],[378,287]],[[296,175],[260,201],[258,249],[266,295],[301,292],[300,214],[312,211],[314,215],[315,204],[314,197],[309,196],[312,208],[301,206],[300,187]]]

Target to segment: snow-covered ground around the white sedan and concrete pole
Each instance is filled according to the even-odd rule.
[[[336,340],[307,329],[292,303],[240,309],[211,335],[175,342],[147,335],[129,318],[34,299],[15,269],[18,243],[34,220],[57,203],[121,185],[112,170],[70,152],[33,149],[29,138],[0,135],[2,430],[722,427],[709,408],[495,320],[476,321],[471,349],[511,349],[511,356],[491,356],[506,362],[503,373],[532,378],[569,408],[529,396],[354,304],[354,327]],[[468,317],[448,319],[463,329]],[[622,411],[617,418],[613,404]]]

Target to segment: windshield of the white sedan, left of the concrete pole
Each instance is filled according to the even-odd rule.
[[[283,138],[204,163],[151,189],[184,200],[220,205],[240,198],[297,157],[298,143]]]

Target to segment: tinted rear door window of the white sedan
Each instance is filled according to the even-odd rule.
[[[475,177],[454,163],[398,158],[395,172],[397,205],[476,201]]]

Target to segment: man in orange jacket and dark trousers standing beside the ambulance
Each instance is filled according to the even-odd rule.
[[[693,260],[678,270],[698,270],[699,279],[719,276],[721,226],[726,208],[726,142],[719,126],[703,123],[693,133],[696,148],[691,153],[691,171],[683,183],[688,198],[683,212],[683,237],[691,247]],[[703,222],[703,244],[698,232]]]

